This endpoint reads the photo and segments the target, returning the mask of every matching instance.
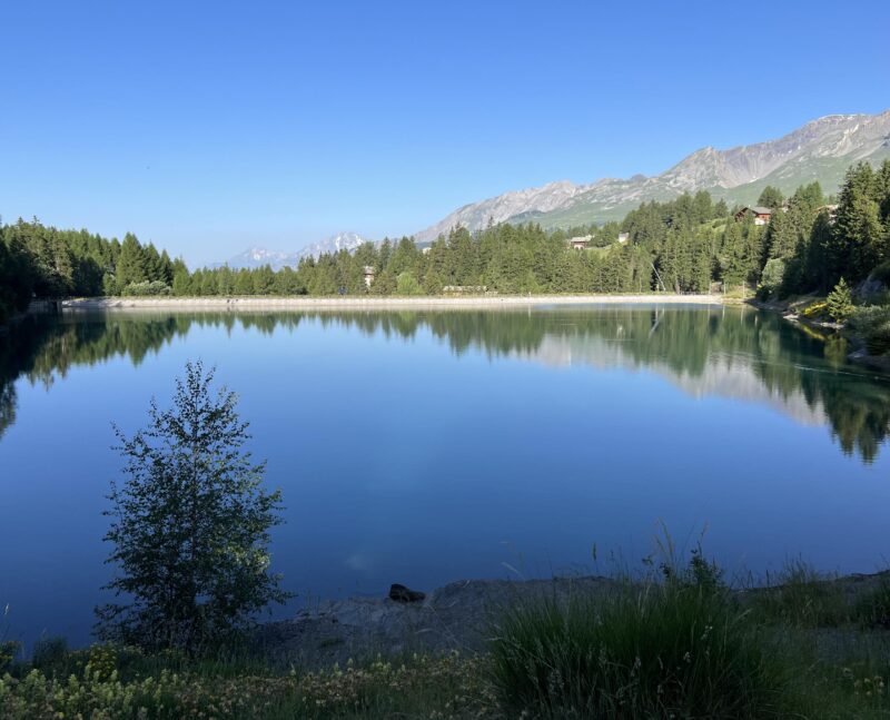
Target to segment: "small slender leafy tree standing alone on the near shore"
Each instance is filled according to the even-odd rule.
[[[236,396],[212,396],[212,379],[188,363],[170,410],[152,401],[132,437],[115,428],[127,479],[112,482],[105,513],[107,562],[119,571],[106,588],[123,602],[97,609],[103,639],[198,652],[289,596],[269,573],[280,493],[263,489],[265,463],[243,450]]]

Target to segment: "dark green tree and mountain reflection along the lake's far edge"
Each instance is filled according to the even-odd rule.
[[[24,318],[0,338],[0,437],[16,422],[19,378],[49,387],[77,365],[127,356],[139,365],[192,327],[270,335],[301,322],[408,339],[428,332],[456,355],[547,365],[649,369],[693,395],[767,403],[828,424],[844,454],[872,462],[890,432],[890,378],[850,365],[847,343],[748,308],[643,307],[388,313],[65,314]]]

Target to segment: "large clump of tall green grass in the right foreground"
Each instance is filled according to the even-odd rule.
[[[715,565],[663,570],[506,611],[492,643],[503,702],[554,718],[784,717],[783,667]]]

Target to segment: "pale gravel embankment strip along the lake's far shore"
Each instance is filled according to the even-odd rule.
[[[487,297],[96,297],[65,300],[65,309],[384,310],[540,307],[545,305],[723,305],[720,295],[497,295]]]

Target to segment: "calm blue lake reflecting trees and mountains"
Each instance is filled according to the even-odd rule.
[[[745,307],[67,313],[0,337],[0,639],[90,640],[121,460],[188,359],[240,397],[307,598],[631,566],[890,556],[890,376]],[[592,549],[597,549],[594,560]]]

